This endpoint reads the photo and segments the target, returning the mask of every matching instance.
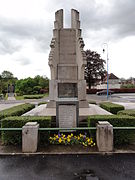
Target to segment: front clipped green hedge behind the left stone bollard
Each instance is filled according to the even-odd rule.
[[[38,122],[39,127],[51,127],[51,117],[41,116],[13,116],[2,119],[2,128],[22,128],[27,122]],[[39,131],[40,132],[40,131]],[[47,144],[49,141],[49,131],[41,131],[40,144]],[[2,131],[1,139],[3,144],[20,145],[22,143],[22,131]]]

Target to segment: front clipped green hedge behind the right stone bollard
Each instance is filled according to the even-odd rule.
[[[92,115],[88,117],[88,126],[95,127],[98,121],[108,121],[114,127],[135,127],[135,117],[125,115]],[[91,131],[93,137],[95,132]],[[135,141],[135,130],[114,130],[114,144],[122,145]]]

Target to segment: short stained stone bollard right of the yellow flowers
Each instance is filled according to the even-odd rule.
[[[113,151],[113,126],[108,121],[98,121],[96,141],[100,152]]]

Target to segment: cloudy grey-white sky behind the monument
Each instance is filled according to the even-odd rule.
[[[0,73],[50,77],[48,55],[55,12],[80,12],[85,50],[102,54],[108,44],[109,73],[135,77],[135,0],[0,0]]]

